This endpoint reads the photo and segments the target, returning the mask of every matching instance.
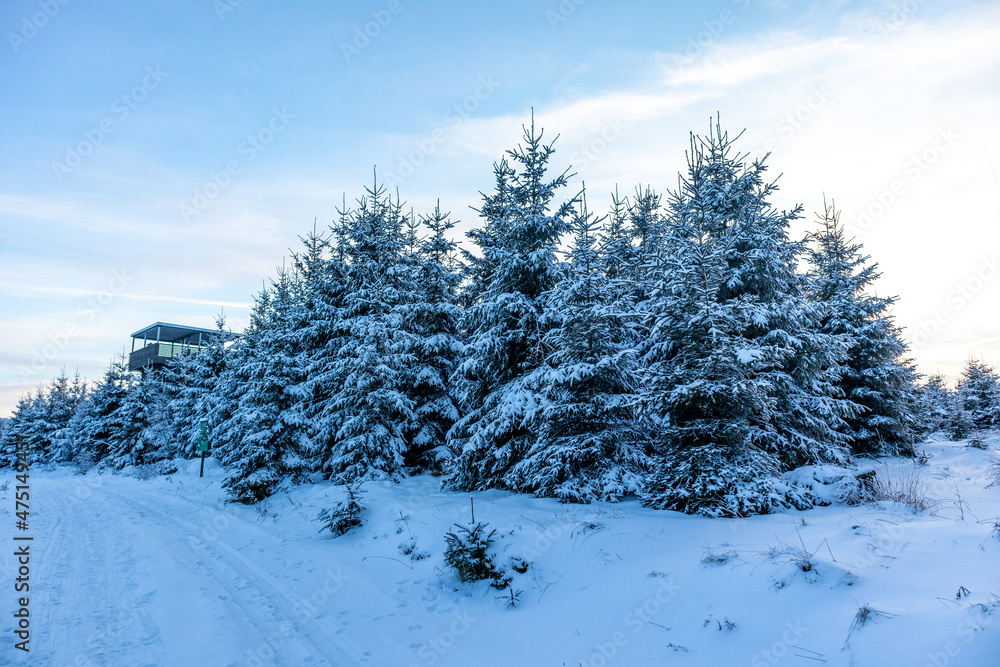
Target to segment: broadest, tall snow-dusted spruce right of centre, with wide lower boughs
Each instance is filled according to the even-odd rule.
[[[641,405],[657,441],[645,502],[717,516],[797,504],[775,477],[844,462],[852,405],[835,382],[846,341],[822,333],[788,238],[800,208],[768,202],[762,161],[746,164],[718,123],[692,135],[672,193],[645,310]]]

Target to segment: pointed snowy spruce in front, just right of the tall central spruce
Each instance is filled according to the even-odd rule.
[[[568,274],[545,295],[545,363],[526,387],[541,397],[537,437],[506,479],[573,502],[617,500],[642,487],[648,459],[632,405],[635,352],[598,252],[601,222],[586,199],[570,225]]]

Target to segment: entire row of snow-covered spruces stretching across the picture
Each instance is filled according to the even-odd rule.
[[[793,238],[802,208],[772,205],[766,158],[717,122],[674,189],[599,213],[543,134],[494,164],[470,243],[376,176],[302,238],[246,331],[220,316],[205,349],[141,376],[121,357],[93,383],[64,371],[0,425],[0,466],[26,442],[33,466],[165,474],[206,420],[240,503],[429,473],[740,517],[821,502],[793,469],[1000,425],[994,369],[922,379],[836,208]]]

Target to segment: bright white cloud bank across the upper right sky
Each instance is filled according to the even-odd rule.
[[[884,22],[880,11],[869,18]],[[857,21],[841,25],[841,34],[822,38],[782,32],[727,41],[723,35],[694,59],[658,54],[656,78],[540,105],[536,123],[560,133],[556,166],[574,163],[595,209],[616,183],[625,192],[639,182],[661,191],[673,186],[688,131],[707,129],[716,110],[730,131],[747,128],[744,150],[770,147],[774,175],[784,174],[776,203],[806,205],[797,232],[811,227],[824,192],[856,227],[880,194],[902,182],[902,194],[877,223],[856,231],[884,271],[879,290],[900,296],[897,317],[912,336],[979,249],[1000,247],[994,157],[1000,7],[915,12],[886,35],[859,29]],[[440,192],[446,183],[468,180],[458,174],[482,170],[483,156],[498,158],[526,120],[522,112],[466,121],[453,145],[419,174],[421,188]],[[625,128],[602,141],[616,122]],[[975,315],[1000,330],[1000,313],[987,303],[978,303]],[[958,322],[952,318],[951,326]],[[1000,362],[1000,344],[972,333],[942,331],[944,349],[935,348],[931,358],[929,347],[918,348],[917,361],[954,377],[965,348],[982,346]]]

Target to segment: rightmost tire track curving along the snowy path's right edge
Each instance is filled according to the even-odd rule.
[[[99,491],[123,500],[134,508],[133,511],[141,509],[162,517],[161,525],[167,527],[188,546],[213,579],[230,593],[233,601],[260,631],[262,638],[274,635],[276,629],[284,635],[283,638],[279,637],[277,642],[267,642],[274,647],[275,658],[269,658],[264,661],[265,663],[270,664],[269,660],[285,658],[289,664],[305,665],[310,664],[311,659],[318,658],[321,661],[319,664],[338,667],[362,664],[353,651],[329,638],[322,628],[316,627],[312,619],[296,612],[298,602],[261,568],[218,541],[209,542],[196,537],[199,528],[195,524],[139,502],[132,496],[106,488],[100,488]],[[146,498],[154,500],[148,496]],[[160,499],[156,500],[162,502]],[[267,618],[261,611],[265,608],[271,612],[272,618]],[[281,656],[281,652],[287,651],[290,647],[297,647],[299,653],[303,655],[296,660]]]

